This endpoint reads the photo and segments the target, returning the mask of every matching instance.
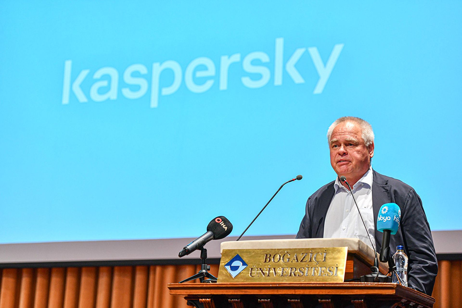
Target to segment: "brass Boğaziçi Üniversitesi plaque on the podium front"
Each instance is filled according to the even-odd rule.
[[[347,247],[224,249],[218,282],[343,282]]]

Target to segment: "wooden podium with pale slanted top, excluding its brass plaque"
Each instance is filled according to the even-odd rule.
[[[222,249],[348,247],[345,279],[358,277],[373,263],[373,250],[358,239],[304,239],[223,242]],[[348,265],[350,262],[350,265]],[[359,266],[358,262],[363,265]],[[381,271],[383,271],[381,266]],[[169,284],[197,308],[432,308],[435,299],[391,283],[278,282]]]

